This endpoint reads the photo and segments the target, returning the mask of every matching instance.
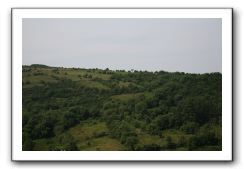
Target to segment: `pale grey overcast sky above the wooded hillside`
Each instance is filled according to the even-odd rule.
[[[221,19],[23,19],[23,64],[221,72]]]

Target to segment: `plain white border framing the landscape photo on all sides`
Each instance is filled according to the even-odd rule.
[[[22,151],[23,18],[221,18],[222,151]],[[13,161],[232,161],[232,9],[12,9]]]

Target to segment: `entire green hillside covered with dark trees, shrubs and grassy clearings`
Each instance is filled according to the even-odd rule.
[[[222,150],[221,79],[23,66],[23,150]]]

